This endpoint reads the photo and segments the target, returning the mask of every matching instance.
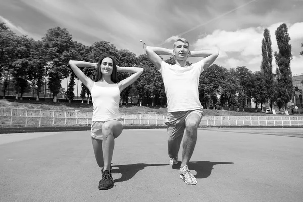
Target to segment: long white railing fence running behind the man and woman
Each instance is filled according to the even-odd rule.
[[[125,125],[165,125],[166,115],[121,114]],[[91,125],[92,112],[0,108],[0,127]],[[303,126],[303,116],[203,116],[206,126]]]

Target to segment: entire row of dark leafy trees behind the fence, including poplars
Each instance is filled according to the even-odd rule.
[[[36,89],[39,100],[39,92],[46,79],[56,102],[62,79],[69,78],[66,96],[73,100],[76,76],[67,65],[68,61],[72,59],[97,62],[100,56],[111,55],[120,66],[144,68],[140,78],[121,93],[123,102],[127,102],[130,92],[139,95],[141,99],[153,97],[156,104],[160,97],[165,97],[161,75],[145,54],[136,56],[128,50],[118,50],[107,41],[85,46],[73,41],[68,30],[60,27],[49,29],[41,41],[35,41],[27,36],[17,36],[5,23],[0,22],[0,40],[0,78],[4,95],[8,87],[8,78],[13,78],[17,95],[20,93],[22,97],[25,89],[31,86]],[[244,107],[247,98],[253,98],[256,106],[268,100],[271,106],[273,102],[277,102],[279,107],[282,104],[286,105],[293,90],[290,71],[292,55],[286,24],[277,28],[276,40],[279,48],[279,52],[274,53],[278,65],[276,74],[272,73],[270,33],[265,29],[261,71],[252,73],[245,66],[231,69],[216,64],[210,66],[202,73],[199,82],[199,98],[203,105]],[[174,64],[175,60],[171,57],[166,62]],[[94,78],[94,69],[82,68],[82,71],[90,78]],[[128,73],[119,72],[118,80],[127,76]],[[89,91],[83,84],[81,87],[80,96],[84,99],[89,96]]]

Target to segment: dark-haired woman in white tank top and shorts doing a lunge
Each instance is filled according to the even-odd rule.
[[[112,57],[102,57],[98,63],[70,60],[69,65],[80,81],[88,88],[92,97],[91,139],[97,163],[100,168],[103,167],[99,189],[107,190],[114,186],[111,174],[114,139],[122,132],[122,119],[119,115],[120,93],[139,78],[143,68],[119,67]],[[78,67],[96,68],[97,73],[94,81],[85,76]],[[119,71],[133,74],[118,82],[117,72]]]

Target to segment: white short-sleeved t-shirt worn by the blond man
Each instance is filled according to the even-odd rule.
[[[199,100],[199,78],[204,61],[181,67],[162,61],[162,75],[167,97],[167,112],[188,111],[203,108]]]

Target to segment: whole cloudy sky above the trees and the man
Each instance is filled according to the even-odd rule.
[[[108,41],[118,49],[143,53],[147,45],[171,48],[186,38],[191,49],[220,50],[216,64],[259,71],[261,41],[268,28],[286,23],[293,75],[303,73],[303,0],[1,0],[0,21],[18,35],[40,40],[49,28],[67,28],[85,45]],[[197,58],[191,58],[195,62]],[[274,71],[276,68],[273,60]]]

